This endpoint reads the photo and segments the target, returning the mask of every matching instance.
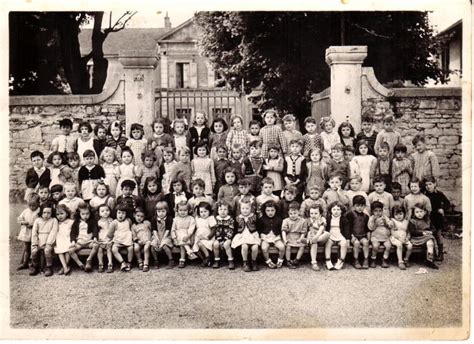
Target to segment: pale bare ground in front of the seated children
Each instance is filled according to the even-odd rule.
[[[137,268],[129,273],[28,276],[20,259],[16,217],[10,214],[10,324],[13,328],[302,328],[461,326],[461,240],[446,240],[438,271],[417,275],[388,269],[245,273]],[[56,262],[58,264],[58,262]],[[58,267],[55,267],[57,271]]]

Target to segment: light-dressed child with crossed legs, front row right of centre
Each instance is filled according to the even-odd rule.
[[[329,232],[326,231],[326,219],[323,216],[324,210],[319,204],[314,204],[307,208],[305,216],[306,227],[308,228],[308,236],[306,241],[310,247],[311,268],[319,271],[317,261],[318,244],[325,244],[329,239]]]

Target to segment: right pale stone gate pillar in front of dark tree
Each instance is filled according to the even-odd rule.
[[[336,128],[349,121],[360,131],[362,110],[362,63],[367,46],[332,46],[326,49],[326,63],[331,68],[331,116]]]

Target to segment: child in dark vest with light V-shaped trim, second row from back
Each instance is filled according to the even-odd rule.
[[[285,157],[283,165],[283,177],[286,185],[292,184],[297,189],[297,199],[301,200],[304,185],[308,176],[306,159],[301,154],[303,143],[301,141],[290,142],[290,154]]]

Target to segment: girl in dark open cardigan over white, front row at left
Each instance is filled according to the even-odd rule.
[[[91,210],[85,203],[80,204],[74,215],[74,223],[71,227],[71,246],[69,248],[69,255],[76,262],[80,269],[86,272],[92,271],[92,259],[99,250],[97,243],[98,231],[97,221],[91,216]],[[83,248],[90,248],[91,252],[87,257],[86,265],[82,264],[77,256],[77,252]]]

